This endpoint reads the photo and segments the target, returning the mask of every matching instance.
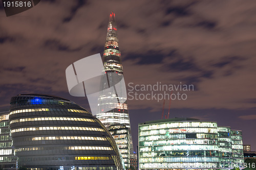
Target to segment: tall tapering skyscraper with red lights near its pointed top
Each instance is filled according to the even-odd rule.
[[[115,13],[113,12],[110,14],[108,24],[108,32],[106,35],[103,53],[103,65],[106,74],[102,77],[102,90],[110,90],[109,92],[102,92],[102,94],[99,96],[98,114],[96,117],[107,128],[109,128],[111,125],[124,125],[127,128],[127,133],[123,135],[113,135],[117,145],[119,146],[125,166],[130,167],[130,157],[134,156],[130,117],[126,103],[126,95],[125,99],[123,96],[118,95],[124,92],[126,94],[126,91],[121,89],[122,87],[125,87],[125,84],[121,84],[119,88],[115,87],[117,82],[122,82],[123,66],[118,45]],[[124,128],[123,126],[119,127],[122,127],[122,129]]]

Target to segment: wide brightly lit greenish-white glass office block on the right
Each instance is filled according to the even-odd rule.
[[[226,162],[233,162],[233,139],[229,136],[230,128],[194,118],[139,124],[139,169],[225,168]]]

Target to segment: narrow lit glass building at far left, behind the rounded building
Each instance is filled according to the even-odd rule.
[[[0,112],[0,168],[16,169],[9,129],[9,111]]]

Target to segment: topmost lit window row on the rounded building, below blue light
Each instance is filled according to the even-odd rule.
[[[49,109],[49,108],[38,108],[38,109],[22,109],[22,110],[15,110],[11,111],[11,114],[16,114],[16,113],[24,113],[24,112],[41,112],[41,111],[69,111],[69,112],[77,112],[77,113],[89,113],[86,110],[76,110],[76,109]]]

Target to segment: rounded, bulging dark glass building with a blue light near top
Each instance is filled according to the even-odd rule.
[[[56,96],[11,99],[10,129],[18,166],[29,169],[117,169],[115,140],[90,112]]]

